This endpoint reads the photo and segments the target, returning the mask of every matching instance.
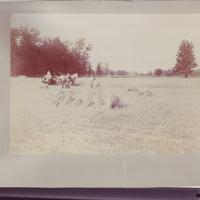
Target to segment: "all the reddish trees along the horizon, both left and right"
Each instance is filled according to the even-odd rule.
[[[59,75],[78,73],[79,76],[126,76],[125,70],[110,70],[108,62],[99,62],[95,69],[90,63],[91,44],[84,38],[75,42],[61,41],[59,37],[42,38],[40,32],[29,27],[11,28],[11,75],[43,76],[50,71]],[[176,64],[172,69],[155,69],[148,75],[188,77],[197,67],[192,42],[183,40],[179,46]]]

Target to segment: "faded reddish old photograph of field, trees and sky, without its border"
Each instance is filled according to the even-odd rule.
[[[11,15],[10,153],[200,153],[199,21]]]

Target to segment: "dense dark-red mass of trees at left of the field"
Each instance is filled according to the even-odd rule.
[[[75,42],[41,38],[39,31],[28,27],[11,29],[11,75],[29,77],[52,74],[90,72],[92,47],[85,39]]]

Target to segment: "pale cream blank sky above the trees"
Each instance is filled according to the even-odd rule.
[[[181,40],[194,44],[200,64],[200,14],[14,14],[11,26],[28,25],[41,36],[92,44],[90,60],[111,69],[148,72],[170,69]]]

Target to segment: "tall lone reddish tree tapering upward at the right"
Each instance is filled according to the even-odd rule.
[[[181,42],[173,70],[175,74],[184,74],[185,77],[188,77],[192,69],[197,67],[193,49],[194,47],[191,42],[187,40]]]

